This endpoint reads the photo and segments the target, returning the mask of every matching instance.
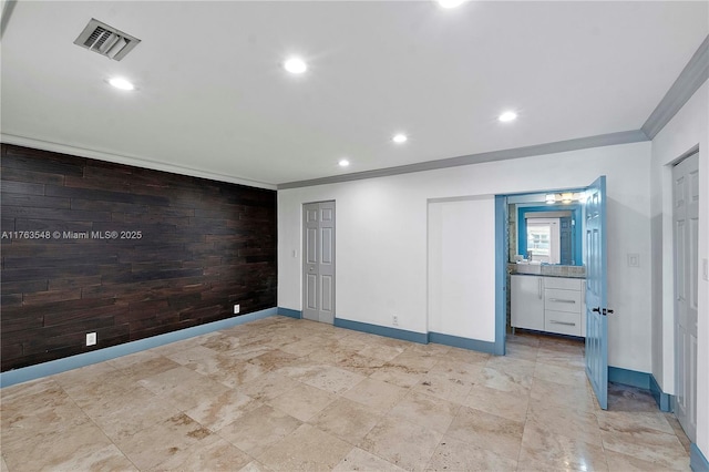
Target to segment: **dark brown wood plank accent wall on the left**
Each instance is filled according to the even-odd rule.
[[[2,371],[276,306],[275,191],[1,153]]]

